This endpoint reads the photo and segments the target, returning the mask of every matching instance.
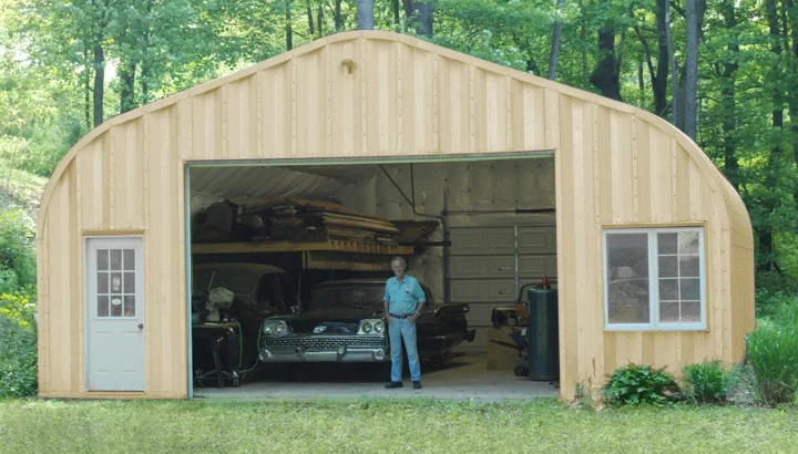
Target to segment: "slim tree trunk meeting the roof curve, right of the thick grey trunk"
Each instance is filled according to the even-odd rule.
[[[735,6],[733,0],[724,0],[719,6],[719,11],[724,17],[726,30],[734,30],[737,27],[737,18],[735,17]],[[724,173],[732,183],[732,186],[739,192],[739,163],[735,149],[735,132],[737,131],[737,103],[736,103],[736,78],[737,78],[737,55],[739,54],[739,44],[732,39],[727,45],[729,58],[724,62],[723,86],[720,89],[720,111],[723,112],[723,131],[724,131]]]

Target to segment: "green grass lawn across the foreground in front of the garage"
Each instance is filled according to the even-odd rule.
[[[0,452],[796,452],[798,411],[529,403],[0,402]]]

